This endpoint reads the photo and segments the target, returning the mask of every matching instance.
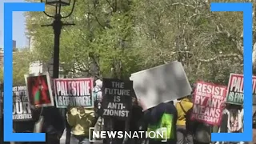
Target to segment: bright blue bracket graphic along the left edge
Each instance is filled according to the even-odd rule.
[[[46,142],[44,133],[13,133],[13,12],[44,11],[45,3],[4,3],[4,142]]]

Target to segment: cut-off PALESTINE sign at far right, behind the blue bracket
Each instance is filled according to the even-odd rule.
[[[253,104],[256,104],[256,77],[253,76]],[[230,74],[226,103],[243,104],[243,74]]]

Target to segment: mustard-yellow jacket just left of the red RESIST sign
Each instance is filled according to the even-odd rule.
[[[178,118],[177,118],[176,125],[185,126],[186,125],[186,118],[185,118],[186,114],[182,110],[182,107],[180,104],[182,104],[182,107],[185,111],[188,111],[193,107],[193,103],[190,102],[190,100],[188,98],[182,98],[181,102],[176,103],[176,109],[178,112]]]

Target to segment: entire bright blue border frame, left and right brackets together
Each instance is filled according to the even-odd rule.
[[[244,42],[244,132],[212,134],[213,142],[252,141],[252,3],[221,3],[212,2],[211,11],[242,11],[243,42]],[[13,86],[13,55],[12,55],[12,12],[13,11],[44,11],[44,3],[5,2],[4,3],[4,141],[5,142],[45,142],[46,134],[13,133],[12,119],[12,86]],[[6,97],[7,95],[7,97]],[[9,105],[8,105],[9,104]]]

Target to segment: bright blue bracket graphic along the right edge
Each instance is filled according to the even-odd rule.
[[[252,26],[253,3],[251,2],[211,2],[211,11],[243,12],[243,73],[244,73],[244,131],[243,133],[212,133],[212,142],[252,142]]]

